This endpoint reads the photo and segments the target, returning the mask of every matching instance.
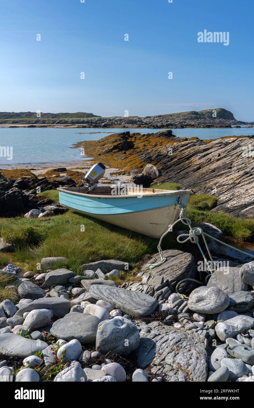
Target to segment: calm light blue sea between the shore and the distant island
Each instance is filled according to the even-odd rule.
[[[0,128],[1,146],[12,146],[12,160],[7,160],[0,149],[0,168],[18,164],[45,164],[88,160],[81,156],[73,144],[83,140],[99,140],[112,133],[130,131],[152,133],[162,129],[54,129],[54,128]],[[197,136],[200,139],[216,139],[221,136],[253,135],[254,128],[241,129],[173,129],[178,137]],[[10,150],[9,150],[10,152]],[[7,150],[8,153],[8,150]],[[9,154],[10,157],[10,154]]]

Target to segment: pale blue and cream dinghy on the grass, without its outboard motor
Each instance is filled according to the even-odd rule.
[[[160,190],[123,184],[87,187],[62,187],[59,202],[70,210],[88,215],[152,238],[160,238],[186,207],[192,191]]]

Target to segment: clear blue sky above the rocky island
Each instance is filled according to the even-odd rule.
[[[0,111],[254,120],[253,0],[81,1],[0,0]],[[199,43],[205,29],[229,45]]]

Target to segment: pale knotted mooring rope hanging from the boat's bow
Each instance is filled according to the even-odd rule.
[[[191,242],[192,244],[197,244],[197,246],[198,246],[198,248],[199,248],[199,251],[201,252],[201,255],[202,255],[203,258],[204,258],[204,266],[206,266],[206,268],[208,269],[208,272],[206,271],[206,272],[208,273],[208,275],[206,276],[205,283],[207,283],[208,278],[209,278],[209,277],[212,275],[212,273],[214,272],[214,268],[210,268],[210,266],[209,266],[208,263],[207,263],[206,256],[205,256],[204,252],[202,251],[202,248],[201,248],[201,246],[200,246],[200,244],[199,244],[199,239],[198,239],[198,236],[199,236],[199,235],[201,235],[202,238],[203,238],[203,240],[204,240],[204,244],[205,244],[205,246],[206,246],[206,250],[207,250],[207,253],[208,253],[208,255],[209,255],[209,258],[210,258],[210,260],[212,261],[212,265],[214,265],[214,260],[212,259],[212,255],[211,255],[211,253],[210,253],[210,251],[209,251],[209,248],[208,248],[208,244],[207,244],[207,242],[206,242],[205,235],[206,235],[207,237],[211,238],[211,239],[214,239],[215,241],[219,242],[220,244],[223,244],[223,245],[225,245],[225,246],[228,246],[229,248],[232,248],[232,249],[234,249],[234,250],[236,250],[236,251],[239,251],[239,252],[243,253],[244,255],[247,255],[247,256],[249,256],[249,257],[254,258],[254,255],[252,255],[252,254],[250,254],[250,253],[247,253],[247,252],[244,252],[244,251],[242,251],[242,250],[239,249],[239,248],[235,248],[234,246],[229,245],[229,244],[226,244],[226,242],[220,241],[220,239],[217,239],[217,238],[213,237],[212,235],[209,235],[208,233],[204,232],[201,227],[192,227],[192,226],[191,226],[191,221],[190,221],[190,219],[186,217],[186,207],[181,206],[181,211],[180,211],[179,219],[176,220],[176,221],[168,228],[168,230],[160,237],[160,241],[159,241],[159,244],[158,244],[158,247],[157,247],[157,248],[158,248],[158,253],[159,253],[159,255],[160,255],[160,261],[159,261],[159,262],[156,262],[156,263],[154,263],[154,264],[147,264],[147,265],[145,265],[145,269],[146,269],[146,270],[150,270],[150,269],[156,268],[156,266],[160,266],[160,265],[164,264],[164,262],[166,261],[166,258],[163,257],[163,253],[162,253],[162,248],[161,248],[162,239],[163,239],[169,232],[173,232],[173,226],[175,226],[175,225],[177,224],[177,222],[179,222],[179,221],[181,221],[184,225],[188,225],[190,231],[189,231],[188,234],[180,234],[180,235],[178,235],[178,237],[177,237],[177,242],[179,242],[179,244],[184,244],[185,242],[187,242],[188,240],[190,240],[190,242]],[[186,238],[183,239],[183,240],[181,240],[181,239],[180,239],[181,237],[186,237]],[[210,273],[209,273],[209,272],[210,272]],[[187,280],[193,281],[193,282],[197,282],[197,283],[199,283],[199,284],[201,284],[201,285],[204,285],[203,282],[199,282],[199,281],[197,281],[196,279],[192,279],[192,278],[182,279],[180,282],[177,283],[177,285],[176,285],[176,287],[175,287],[176,293],[177,293],[180,297],[182,297],[182,299],[188,299],[188,296],[186,296],[186,295],[184,295],[184,294],[182,294],[182,293],[178,293],[178,287],[180,286],[180,284],[181,284],[182,282],[187,281]],[[170,284],[170,283],[169,283],[169,284]]]

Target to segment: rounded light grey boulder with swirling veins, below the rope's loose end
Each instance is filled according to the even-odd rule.
[[[223,290],[200,286],[190,293],[188,308],[199,313],[220,313],[229,305],[229,297]]]

